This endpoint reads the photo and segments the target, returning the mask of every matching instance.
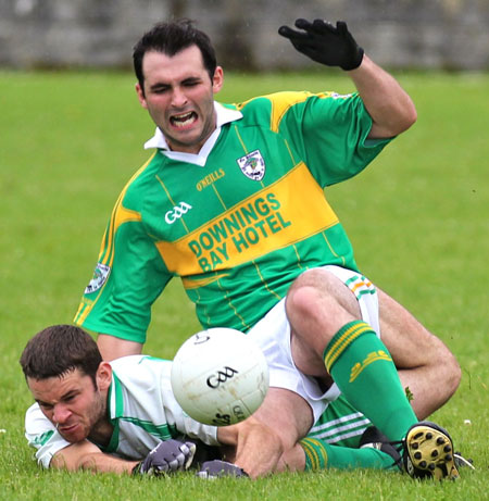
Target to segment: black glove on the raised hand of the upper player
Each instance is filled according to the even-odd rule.
[[[280,26],[279,35],[288,38],[292,46],[317,63],[327,66],[340,66],[343,70],[359,67],[363,59],[363,49],[358,46],[347,23],[338,21],[336,27],[327,21],[297,20],[296,27]]]

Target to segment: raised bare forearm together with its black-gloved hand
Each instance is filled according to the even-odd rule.
[[[353,83],[367,109],[373,126],[369,138],[393,137],[416,121],[416,110],[409,95],[385,70],[375,64],[356,43],[347,24],[336,26],[315,20],[297,20],[296,27],[281,26],[278,33],[317,63],[339,66]]]

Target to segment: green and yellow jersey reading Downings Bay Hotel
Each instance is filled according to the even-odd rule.
[[[388,142],[367,139],[360,97],[278,92],[216,109],[231,118],[203,160],[159,148],[123,189],[76,324],[145,342],[177,276],[204,328],[247,331],[303,271],[356,270],[323,189]]]

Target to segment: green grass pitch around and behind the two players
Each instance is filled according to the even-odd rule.
[[[418,122],[355,179],[327,190],[362,271],[456,354],[463,380],[434,418],[477,472],[418,484],[383,472],[203,483],[42,472],[23,437],[27,339],[70,323],[112,204],[153,133],[128,74],[0,72],[0,485],[2,499],[481,500],[489,492],[489,75],[397,75]],[[337,90],[338,74],[227,77],[221,99]],[[156,303],[146,351],[172,358],[199,328],[179,284]],[[467,424],[469,421],[471,424]]]

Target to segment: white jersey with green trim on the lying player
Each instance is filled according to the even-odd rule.
[[[113,433],[103,452],[127,460],[141,460],[162,440],[186,435],[209,446],[218,446],[217,428],[184,413],[170,383],[172,362],[146,355],[112,361],[108,412]],[[39,464],[49,467],[52,456],[70,446],[35,403],[26,413],[25,436],[37,449]]]

